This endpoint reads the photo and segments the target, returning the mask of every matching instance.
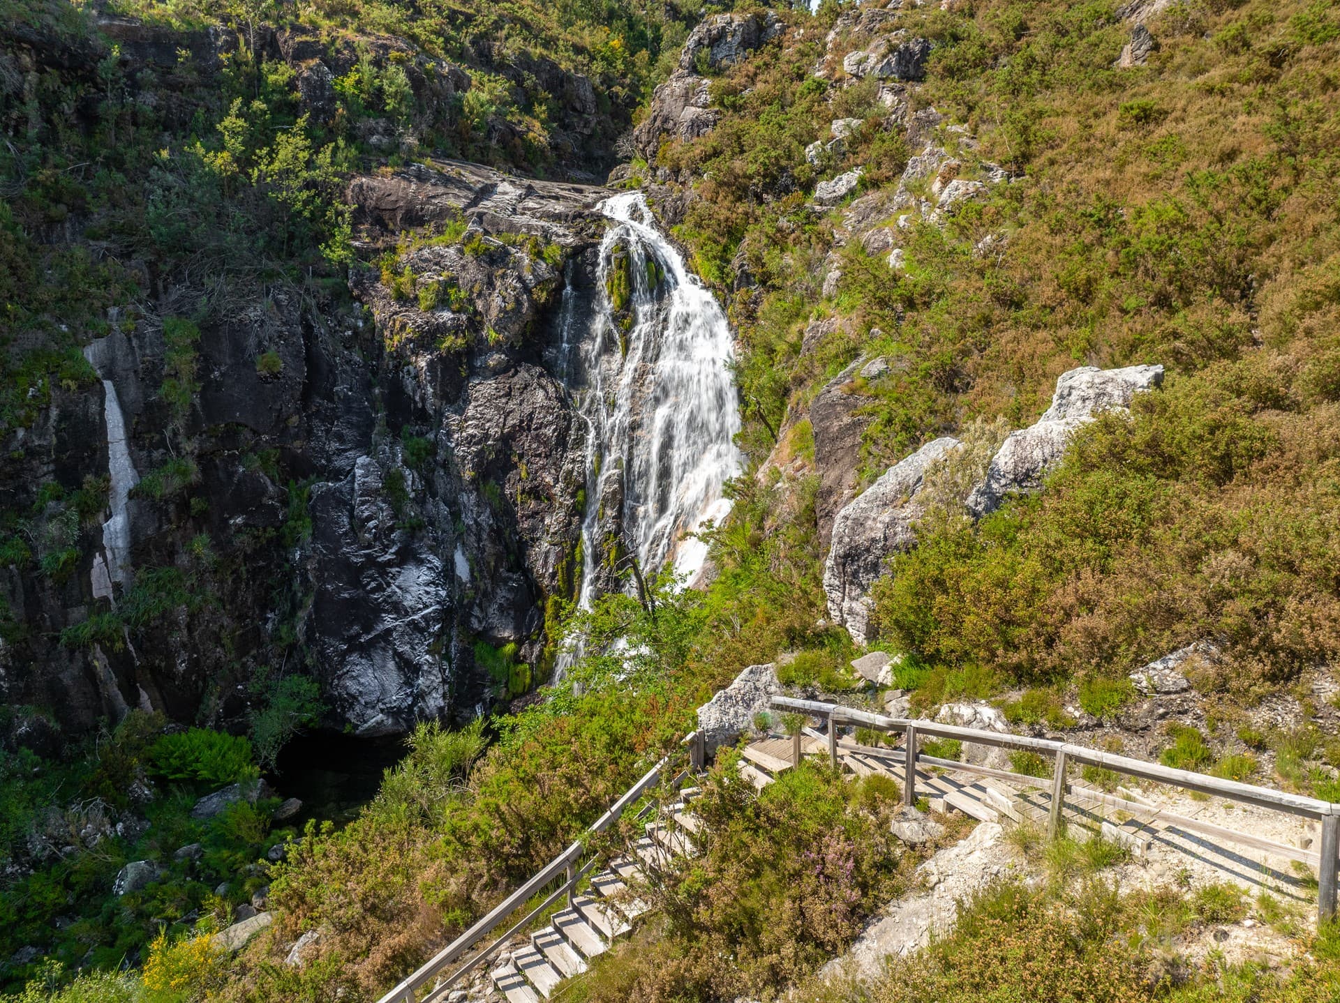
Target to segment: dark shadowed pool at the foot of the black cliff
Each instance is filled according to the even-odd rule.
[[[405,753],[403,735],[311,731],[284,746],[268,779],[281,797],[302,798],[303,818],[343,822],[377,797],[382,775]]]

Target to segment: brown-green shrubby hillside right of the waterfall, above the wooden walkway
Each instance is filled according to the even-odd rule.
[[[773,429],[796,453],[809,399],[860,355],[892,363],[852,391],[867,481],[974,418],[1030,423],[1071,367],[1168,368],[1130,420],[1080,437],[1041,497],[925,526],[880,593],[892,647],[1047,683],[1217,637],[1229,658],[1205,687],[1248,699],[1340,653],[1340,19],[1181,4],[1150,21],[1148,64],[1123,70],[1114,7],[903,12],[937,43],[913,107],[945,117],[935,141],[965,177],[994,162],[1013,179],[917,224],[900,271],[848,242],[831,296],[842,210],[805,205],[815,181],[863,166],[863,193],[892,191],[921,153],[882,125],[868,80],[840,86],[842,39],[833,88],[811,76],[813,29],[714,79],[722,123],[659,163],[705,178],[679,226],[704,273],[757,281],[733,295],[754,462]],[[823,174],[803,151],[831,118],[863,125]],[[838,332],[803,352],[824,316]]]

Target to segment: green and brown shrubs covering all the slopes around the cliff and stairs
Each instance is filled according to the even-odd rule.
[[[748,470],[730,487],[732,517],[709,534],[713,583],[675,591],[663,578],[647,605],[606,597],[572,617],[588,653],[561,686],[541,690],[544,700],[484,727],[421,726],[354,822],[314,824],[281,864],[264,865],[276,921],[245,951],[228,955],[212,940],[237,901],[210,897],[205,882],[182,878],[168,889],[176,895],[146,895],[125,909],[106,899],[130,850],[119,842],[107,844],[117,846],[111,856],[80,854],[7,886],[5,925],[17,937],[9,952],[70,901],[96,903],[102,916],[63,928],[54,966],[11,966],[8,987],[27,983],[12,999],[375,999],[574,838],[742,667],[800,652],[788,682],[851,684],[844,663],[854,648],[825,619],[808,406],[856,359],[890,362],[887,374],[850,388],[867,419],[862,483],[939,434],[978,422],[994,435],[996,419],[1030,423],[1057,375],[1075,366],[1168,371],[1130,415],[1083,430],[1040,494],[980,522],[945,505],[918,528],[918,546],[876,589],[876,621],[878,644],[909,656],[900,682],[919,687],[921,706],[1012,691],[1012,714],[1052,723],[1072,694],[1092,696],[1095,708],[1120,706],[1132,668],[1209,637],[1225,658],[1194,682],[1223,727],[1210,737],[1213,751],[1197,732],[1203,755],[1193,750],[1187,765],[1203,767],[1248,741],[1234,726],[1260,696],[1335,664],[1340,15],[1321,0],[1177,3],[1147,21],[1159,43],[1148,62],[1119,68],[1131,23],[1112,0],[945,7],[900,13],[902,27],[934,43],[907,100],[911,112],[934,108],[943,121],[917,139],[947,145],[962,177],[988,177],[994,165],[1009,179],[938,222],[914,221],[902,268],[859,240],[840,245],[843,206],[812,204],[817,182],[858,166],[860,194],[892,191],[921,153],[886,125],[876,88],[844,83],[850,46],[842,31],[831,43],[825,35],[850,13],[846,4],[784,12],[781,37],[712,75],[716,127],[632,165],[740,333]],[[64,7],[11,0],[0,11],[74,35],[88,29],[83,12]],[[243,37],[287,23],[248,5],[142,3],[126,12],[180,28],[221,19]],[[200,122],[170,135],[166,157],[161,130],[139,130],[141,112],[117,104],[114,64],[111,82],[55,79],[31,112],[48,123],[40,142],[0,150],[4,177],[23,179],[0,210],[0,265],[12,262],[0,268],[0,283],[9,283],[0,287],[8,308],[0,323],[40,321],[48,337],[43,355],[9,355],[5,420],[40,406],[31,387],[50,392],[52,382],[94,378],[58,319],[86,311],[103,323],[105,308],[139,281],[115,258],[47,242],[66,213],[98,221],[107,240],[169,268],[192,265],[205,248],[229,268],[311,266],[338,287],[352,254],[339,181],[355,165],[399,163],[437,147],[532,171],[571,169],[578,149],[559,142],[561,115],[543,87],[524,82],[525,58],[543,55],[599,82],[612,145],[669,71],[694,16],[529,0],[285,8],[284,17],[328,44],[401,39],[414,58],[466,67],[474,86],[460,108],[434,119],[397,104],[398,59],[359,58],[340,91],[350,123],[423,115],[423,129],[410,130],[414,143],[394,149],[311,126],[283,60],[253,62],[249,43],[237,47]],[[820,64],[833,86],[815,76]],[[523,83],[507,76],[513,70]],[[504,76],[512,83],[498,83]],[[66,134],[50,125],[66,87],[107,108],[98,129]],[[13,135],[29,111],[7,100]],[[807,146],[827,142],[828,123],[842,118],[859,121],[846,147],[812,165]],[[99,166],[80,174],[82,159]],[[923,191],[930,178],[917,183]],[[825,283],[833,272],[840,277]],[[835,323],[805,344],[816,320]],[[11,526],[31,518],[31,504],[11,514]],[[78,513],[78,499],[63,504]],[[627,639],[623,655],[599,653],[618,637]],[[1306,712],[1316,710],[1311,691],[1301,696]],[[84,750],[74,778],[80,791],[115,798],[117,779],[151,761],[157,732],[137,734],[142,720],[127,720]],[[1340,747],[1304,731],[1250,737],[1293,742],[1278,775],[1258,779],[1336,799]],[[32,757],[7,759],[13,845],[27,820],[56,802],[62,777]],[[174,795],[178,814],[192,783],[182,779]],[[1301,1003],[1337,991],[1332,929],[1315,939],[1297,932],[1311,960],[1278,978],[1213,960],[1185,971],[1164,964],[1172,939],[1217,909],[1245,915],[1246,904],[1177,891],[1123,899],[1100,873],[1075,872],[1045,886],[994,888],[953,936],[868,990],[811,986],[815,968],[907,886],[910,861],[871,853],[887,842],[896,793],[817,769],[757,801],[724,766],[708,785],[708,813],[722,833],[716,850],[665,891],[655,943],[612,952],[575,998],[775,999],[800,984],[807,998],[833,1000]],[[240,818],[201,838],[220,857],[253,857],[279,838],[267,825]],[[796,854],[819,833],[832,870],[797,868]],[[805,913],[815,895],[836,886],[850,892],[836,921]],[[1256,909],[1270,915],[1269,904]],[[285,964],[288,947],[315,929],[312,960]],[[122,957],[137,971],[115,974]]]

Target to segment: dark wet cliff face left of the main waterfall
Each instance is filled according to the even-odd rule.
[[[565,291],[594,295],[608,193],[454,163],[351,191],[364,245],[464,217],[469,246],[421,241],[397,261],[398,277],[409,272],[398,293],[355,271],[352,308],[287,287],[226,291],[226,309],[200,324],[197,387],[176,410],[159,323],[113,317],[98,343],[141,478],[114,595],[142,587],[169,601],[129,637],[60,643],[110,609],[91,566],[106,513],[79,522],[51,509],[75,533],[68,577],[0,569],[0,597],[27,627],[0,645],[0,696],[51,708],[56,741],[134,707],[240,719],[247,683],[285,656],[292,668],[295,641],[326,723],[364,735],[492,699],[477,641],[540,656],[545,603],[571,595],[582,514],[556,316]],[[189,295],[165,289],[159,313],[186,313],[172,304]],[[47,481],[107,478],[107,400],[100,379],[54,388],[7,439],[9,508],[31,506]],[[165,479],[188,459],[180,483]]]

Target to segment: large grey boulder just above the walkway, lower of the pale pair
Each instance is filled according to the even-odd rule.
[[[858,644],[870,631],[870,589],[888,572],[888,560],[917,544],[914,524],[925,514],[918,497],[926,471],[958,446],[943,437],[922,446],[884,471],[875,483],[833,520],[832,544],[824,564],[828,616]]]

